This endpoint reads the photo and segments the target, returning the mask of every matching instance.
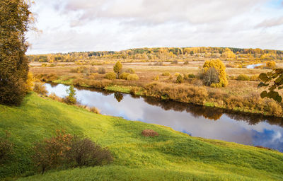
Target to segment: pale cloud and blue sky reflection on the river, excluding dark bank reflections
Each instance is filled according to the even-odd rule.
[[[52,91],[60,97],[67,95],[66,89],[67,86],[64,85],[51,87],[47,84],[47,91]],[[134,99],[127,94],[123,94],[120,102],[115,99],[113,93],[103,95],[103,93],[95,91],[81,90],[76,91],[76,96],[81,100],[81,104],[98,107],[103,115],[113,115],[130,120],[161,124],[192,136],[265,146],[283,151],[283,128],[268,122],[249,124],[247,121],[236,121],[225,114],[217,121],[214,121],[205,118],[209,113],[207,110],[203,112],[204,116],[196,117],[196,115],[202,115],[200,107],[196,107],[194,112],[192,110],[193,107],[184,109],[181,105],[172,103],[172,105],[180,106],[180,111],[178,112],[170,109],[169,104],[162,103],[163,106],[168,106],[168,109],[164,110],[160,107],[160,103],[149,105],[144,98]],[[186,110],[190,111],[186,112]]]

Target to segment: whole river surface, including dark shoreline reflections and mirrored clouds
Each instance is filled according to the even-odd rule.
[[[63,98],[69,86],[45,84],[49,93]],[[265,146],[283,152],[283,119],[231,112],[156,98],[76,88],[82,105],[97,107],[103,115],[161,124],[207,139],[219,139],[251,146]]]

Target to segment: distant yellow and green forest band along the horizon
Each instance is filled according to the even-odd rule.
[[[122,51],[69,52],[67,54],[29,55],[29,62],[76,62],[91,59],[137,59],[141,62],[151,60],[172,61],[172,59],[216,59],[238,61],[283,60],[283,51],[273,49],[241,49],[232,47],[159,47],[137,48]]]

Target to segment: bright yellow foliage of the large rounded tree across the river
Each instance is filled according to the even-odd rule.
[[[212,59],[212,60],[207,60],[206,62],[204,62],[204,65],[203,65],[204,72],[207,72],[207,70],[211,67],[214,67],[219,74],[219,83],[216,83],[213,86],[214,87],[227,86],[228,80],[226,78],[226,71],[225,71],[226,67],[223,64],[223,62],[221,62],[220,59]]]

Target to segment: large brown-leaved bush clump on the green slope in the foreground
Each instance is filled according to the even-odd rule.
[[[44,139],[33,147],[33,163],[43,174],[55,168],[76,168],[104,165],[113,158],[107,148],[101,148],[91,139],[57,131],[50,139]]]

